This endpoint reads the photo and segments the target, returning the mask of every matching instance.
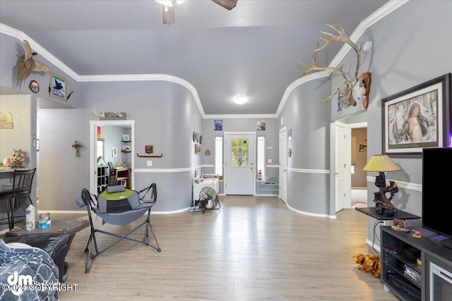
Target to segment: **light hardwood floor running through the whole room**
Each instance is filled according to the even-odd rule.
[[[66,284],[78,286],[61,300],[397,300],[352,258],[374,253],[359,211],[305,216],[275,197],[221,196],[220,204],[205,214],[151,215],[162,252],[123,240],[97,257],[89,274],[85,228],[66,257]],[[132,226],[102,228],[126,233]],[[100,246],[114,240],[97,239]]]

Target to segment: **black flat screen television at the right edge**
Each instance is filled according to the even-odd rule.
[[[452,248],[452,147],[422,149],[422,227]]]

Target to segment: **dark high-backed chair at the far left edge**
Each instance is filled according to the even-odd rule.
[[[21,197],[28,197],[30,204],[33,204],[30,193],[35,173],[36,168],[28,171],[15,169],[12,177],[13,185],[11,186],[11,190],[4,190],[0,192],[0,202],[7,202],[6,214],[8,214],[9,230],[14,228],[14,219],[17,217],[15,216],[15,211],[18,207],[17,199],[20,199]]]

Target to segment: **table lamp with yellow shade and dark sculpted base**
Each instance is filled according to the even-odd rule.
[[[386,154],[374,154],[367,162],[366,166],[362,168],[363,171],[376,171],[379,176],[376,176],[375,186],[379,188],[378,192],[374,192],[374,203],[376,213],[381,215],[391,216],[396,211],[396,208],[391,203],[396,192],[398,192],[397,183],[389,181],[389,185],[386,186],[385,171],[401,171],[402,168],[398,166],[394,161]],[[391,194],[391,197],[386,197],[386,192]]]

